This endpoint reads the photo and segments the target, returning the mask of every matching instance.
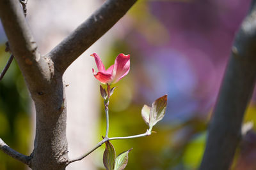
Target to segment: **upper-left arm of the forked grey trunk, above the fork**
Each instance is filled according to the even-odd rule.
[[[17,60],[30,92],[42,90],[51,78],[47,59],[40,57],[18,0],[0,0],[0,17],[12,54]]]

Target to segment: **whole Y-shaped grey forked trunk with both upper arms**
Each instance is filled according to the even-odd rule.
[[[16,154],[15,159],[28,164],[32,169],[66,168],[69,159],[66,137],[67,99],[62,81],[63,73],[81,53],[122,18],[135,2],[136,0],[106,1],[54,50],[42,56],[37,50],[19,1],[0,0],[0,17],[4,31],[36,108],[33,153],[26,157],[12,152]],[[6,148],[3,142],[0,146],[1,150]]]

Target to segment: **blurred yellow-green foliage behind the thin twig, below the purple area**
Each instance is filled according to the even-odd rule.
[[[120,43],[118,44],[120,45]],[[118,47],[121,48],[121,46]],[[115,60],[117,53],[111,52],[109,60]],[[109,100],[109,138],[141,134],[148,129],[141,117],[143,105],[138,104],[134,99],[134,93],[136,92],[136,87],[134,87],[133,83],[134,76],[136,76],[136,73],[131,71],[122,81],[115,85],[118,88],[115,89],[113,96]],[[102,99],[101,97],[99,98]],[[104,134],[106,131],[106,119],[103,99],[101,102],[102,117],[99,125],[100,134]],[[150,103],[145,104],[150,106]],[[252,103],[246,111],[244,122],[256,122],[255,113],[256,106]],[[211,112],[206,115],[207,117],[198,117],[195,113],[193,118],[178,124],[159,122],[160,124],[153,128],[153,131],[157,133],[151,136],[115,140],[111,141],[111,143],[115,146],[116,153],[133,148],[129,153],[129,162],[125,168],[127,170],[197,169],[204,153],[207,124],[211,117]],[[100,150],[103,153],[104,150],[102,148]],[[237,154],[239,155],[239,148]],[[98,159],[99,161],[102,160],[102,155],[99,155]],[[234,161],[234,165],[236,165],[236,161]],[[99,169],[104,169],[104,167],[99,167]]]

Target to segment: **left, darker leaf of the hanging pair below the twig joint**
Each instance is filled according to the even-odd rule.
[[[115,166],[116,152],[114,146],[106,141],[106,148],[103,154],[103,164],[107,170],[113,170]]]

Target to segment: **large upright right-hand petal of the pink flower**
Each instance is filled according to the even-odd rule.
[[[130,70],[130,55],[124,55],[124,53],[120,53],[115,60],[114,68],[113,68],[113,83],[121,80],[124,76],[129,73]]]

